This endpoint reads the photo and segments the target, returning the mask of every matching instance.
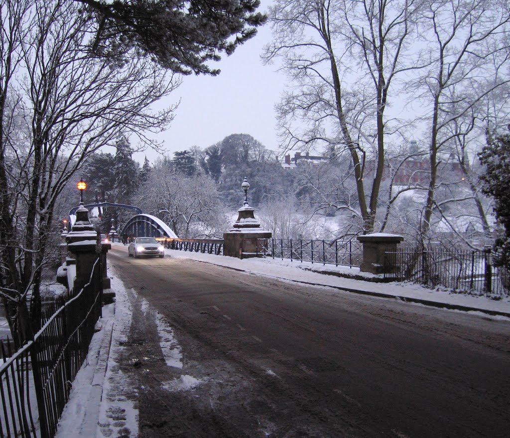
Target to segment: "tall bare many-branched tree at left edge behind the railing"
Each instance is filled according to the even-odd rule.
[[[173,108],[150,106],[178,81],[136,56],[117,63],[91,53],[93,22],[73,2],[6,1],[1,14],[0,293],[22,343],[29,293],[38,324],[57,197],[101,146],[122,133],[148,142],[147,130],[163,129]]]

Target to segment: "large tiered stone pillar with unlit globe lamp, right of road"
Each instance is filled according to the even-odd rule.
[[[255,210],[248,205],[248,189],[250,185],[244,178],[241,188],[244,190],[244,203],[238,210],[238,218],[228,233],[223,234],[223,255],[247,259],[257,257],[261,253],[259,239],[271,239],[272,234],[260,227],[259,221],[255,218]],[[257,247],[259,245],[259,248]]]

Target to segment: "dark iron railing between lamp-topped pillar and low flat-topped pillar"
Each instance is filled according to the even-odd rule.
[[[353,240],[258,239],[257,252],[273,259],[349,267],[360,266],[363,258],[363,247]]]

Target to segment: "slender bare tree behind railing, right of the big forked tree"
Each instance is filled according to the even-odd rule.
[[[510,80],[505,67],[510,53],[509,21],[508,6],[497,0],[442,0],[423,9],[421,35],[429,62],[416,80],[409,82],[409,93],[429,108],[422,117],[430,156],[422,235],[428,233],[437,206],[441,153],[448,154],[448,146],[473,129],[475,118],[464,123],[472,109]]]

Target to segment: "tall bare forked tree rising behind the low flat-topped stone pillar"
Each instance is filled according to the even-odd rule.
[[[403,57],[420,2],[276,1],[275,40],[265,59],[282,59],[297,84],[279,106],[286,149],[319,144],[350,155],[366,232],[374,229],[385,167],[392,84],[414,65]],[[373,170],[367,171],[367,160]]]

